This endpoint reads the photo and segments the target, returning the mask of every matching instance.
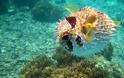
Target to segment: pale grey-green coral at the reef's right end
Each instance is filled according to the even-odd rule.
[[[96,68],[101,68],[109,73],[107,78],[124,78],[124,70],[118,64],[106,60],[103,56],[93,56],[89,60],[96,63]]]

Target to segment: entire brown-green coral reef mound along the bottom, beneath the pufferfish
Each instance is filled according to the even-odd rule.
[[[65,52],[61,48],[57,51]],[[59,53],[58,53],[59,54]],[[55,56],[57,56],[56,54]],[[71,64],[66,61],[66,54],[70,58]],[[58,55],[58,57],[61,55]],[[54,58],[54,61],[60,61],[62,63],[56,64],[50,60],[50,58],[44,56],[44,58],[38,57],[39,59],[27,64],[21,71],[20,78],[124,78],[124,71],[115,64],[106,61],[102,56],[94,56],[92,58],[85,58],[78,61],[72,61],[72,55],[65,55],[58,60]],[[67,60],[68,60],[67,58]],[[64,65],[65,64],[65,65]]]

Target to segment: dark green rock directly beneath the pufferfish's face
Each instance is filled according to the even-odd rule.
[[[79,62],[83,57],[77,57],[69,53],[63,47],[57,47],[53,59],[57,61],[57,66],[71,65],[74,62]]]

